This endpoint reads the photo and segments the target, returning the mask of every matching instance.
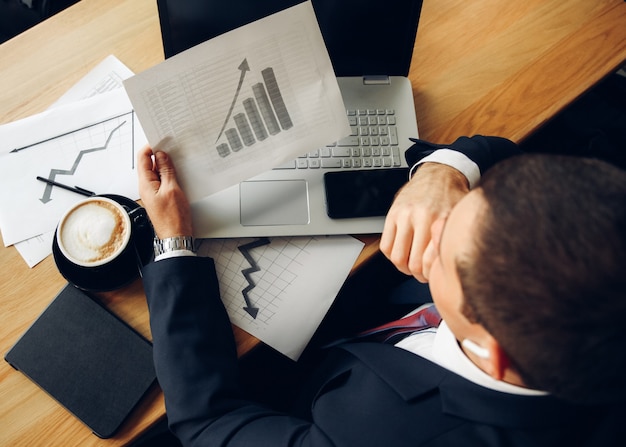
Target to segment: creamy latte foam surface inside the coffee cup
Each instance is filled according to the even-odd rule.
[[[63,221],[61,243],[67,255],[81,263],[95,263],[116,255],[128,239],[125,216],[114,205],[89,201]]]

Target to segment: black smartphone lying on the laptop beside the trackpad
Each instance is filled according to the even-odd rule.
[[[326,213],[332,219],[384,216],[408,179],[409,168],[326,172]]]

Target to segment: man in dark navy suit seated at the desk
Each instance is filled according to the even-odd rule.
[[[154,361],[184,445],[623,442],[626,173],[537,155],[492,168],[516,152],[498,138],[449,149],[409,150],[411,162],[432,154],[399,193],[381,242],[400,270],[429,281],[439,329],[329,349],[291,413],[242,391],[213,261],[189,250],[174,166],[141,152],[140,194],[160,238],[143,272]],[[458,152],[469,157],[465,175],[442,164]]]

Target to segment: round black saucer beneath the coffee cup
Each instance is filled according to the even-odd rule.
[[[61,254],[57,244],[56,231],[52,240],[52,255],[59,272],[71,284],[90,292],[104,292],[119,289],[139,276],[142,265],[150,262],[153,255],[152,240],[154,231],[146,211],[137,202],[115,194],[101,194],[115,200],[131,214],[132,234],[128,249],[109,264],[98,267],[81,267],[72,264]]]

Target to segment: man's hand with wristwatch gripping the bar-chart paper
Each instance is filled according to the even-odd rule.
[[[157,237],[193,236],[189,201],[170,157],[146,146],[139,152],[137,166],[139,195]]]

